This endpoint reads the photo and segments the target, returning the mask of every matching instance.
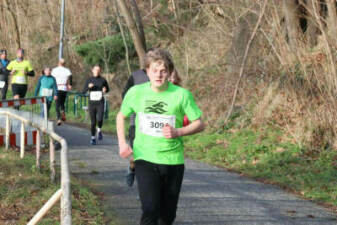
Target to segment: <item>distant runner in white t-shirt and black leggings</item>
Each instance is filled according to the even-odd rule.
[[[66,121],[65,116],[65,100],[67,97],[67,91],[72,88],[72,74],[71,71],[65,67],[65,60],[60,59],[58,67],[55,67],[51,72],[51,75],[55,77],[57,83],[57,101],[56,101],[56,113],[57,113],[57,125],[61,125],[61,120]],[[62,110],[62,116],[61,116]]]

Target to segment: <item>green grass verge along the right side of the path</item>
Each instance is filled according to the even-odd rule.
[[[277,184],[306,199],[337,208],[337,152],[281,142],[278,129],[227,130],[185,137],[192,159]]]

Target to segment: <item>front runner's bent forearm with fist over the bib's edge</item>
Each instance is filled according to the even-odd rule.
[[[186,127],[182,128],[173,128],[169,125],[165,125],[163,128],[163,135],[166,138],[176,138],[176,137],[182,137],[187,135],[192,135],[199,133],[205,129],[205,124],[201,120],[201,118],[193,121]]]

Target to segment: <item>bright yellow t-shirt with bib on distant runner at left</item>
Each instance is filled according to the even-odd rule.
[[[8,64],[7,69],[16,71],[12,75],[12,84],[27,84],[28,77],[23,73],[23,71],[33,71],[33,67],[28,60],[18,62],[16,59]]]

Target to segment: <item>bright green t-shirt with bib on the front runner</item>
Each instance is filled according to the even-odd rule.
[[[182,138],[163,137],[162,127],[170,124],[181,128],[184,115],[190,121],[201,117],[202,112],[189,91],[172,83],[163,92],[154,92],[150,82],[136,85],[124,97],[121,112],[127,117],[133,113],[137,115],[133,145],[135,160],[164,165],[184,164]]]

